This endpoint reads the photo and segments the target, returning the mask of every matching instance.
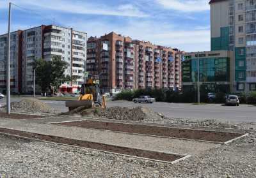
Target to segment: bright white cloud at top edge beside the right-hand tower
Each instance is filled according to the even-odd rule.
[[[166,9],[184,12],[205,11],[210,9],[209,1],[205,0],[156,0],[156,2]]]

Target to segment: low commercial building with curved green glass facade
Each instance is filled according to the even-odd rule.
[[[234,57],[231,51],[190,52],[182,61],[182,85],[197,87],[198,61],[200,85],[207,91],[229,93],[233,86]]]

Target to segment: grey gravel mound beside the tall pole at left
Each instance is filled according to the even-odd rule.
[[[4,106],[3,108],[6,108]],[[34,98],[26,98],[19,102],[11,103],[11,110],[13,112],[26,112],[26,113],[54,113],[55,110],[52,110],[49,105],[43,103],[40,100]]]

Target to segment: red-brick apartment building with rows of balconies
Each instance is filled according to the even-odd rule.
[[[112,32],[88,38],[86,70],[99,77],[103,92],[146,87],[180,89],[181,57],[177,49]]]

